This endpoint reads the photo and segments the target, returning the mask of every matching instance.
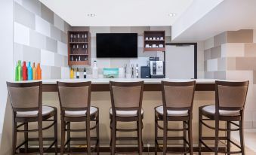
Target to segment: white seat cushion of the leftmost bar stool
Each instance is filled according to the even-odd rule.
[[[48,115],[54,111],[54,108],[42,106],[42,116]],[[37,117],[39,111],[18,111],[16,117]]]

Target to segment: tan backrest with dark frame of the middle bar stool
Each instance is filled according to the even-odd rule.
[[[109,82],[113,114],[116,110],[141,110],[143,81]]]

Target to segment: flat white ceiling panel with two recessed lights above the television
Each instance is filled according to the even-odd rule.
[[[39,0],[71,26],[171,26],[193,0]],[[177,14],[170,17],[168,14]],[[95,17],[88,17],[95,14]]]

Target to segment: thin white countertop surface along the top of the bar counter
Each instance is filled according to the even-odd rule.
[[[86,78],[86,79],[49,79],[42,80],[43,84],[56,84],[57,81],[62,82],[82,82],[91,81],[92,84],[109,84],[109,81],[144,81],[144,84],[160,84],[161,81],[193,81],[193,79],[168,79],[168,78]],[[214,84],[216,79],[196,79],[196,84]],[[26,81],[30,82],[30,81]],[[31,81],[32,82],[32,81]]]

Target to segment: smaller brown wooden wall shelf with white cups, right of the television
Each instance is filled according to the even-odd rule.
[[[165,31],[144,31],[143,51],[165,51]]]

